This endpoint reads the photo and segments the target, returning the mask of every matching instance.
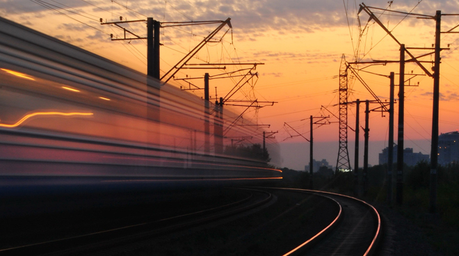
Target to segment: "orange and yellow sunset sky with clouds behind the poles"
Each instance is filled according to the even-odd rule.
[[[424,15],[433,16],[435,10],[459,13],[457,1],[391,2],[364,1],[367,6]],[[309,161],[309,144],[304,138],[296,136],[296,131],[309,138],[309,115],[329,115],[328,111],[321,110],[321,106],[337,115],[338,107],[335,105],[339,96],[336,91],[339,88],[341,55],[345,54],[346,60],[350,62],[356,61],[356,56],[358,61],[398,60],[399,47],[396,42],[378,24],[373,21],[367,23],[369,16],[366,13],[360,13],[359,26],[359,3],[361,2],[348,0],[0,0],[0,15],[140,72],[146,72],[146,40],[111,42],[110,34],[121,36],[122,31],[113,26],[101,25],[99,18],[106,22],[118,21],[120,16],[124,20],[153,17],[160,22],[189,22],[225,20],[230,17],[232,29],[226,26],[215,38],[218,40],[227,32],[222,42],[209,43],[191,63],[264,63],[257,66],[259,79],[256,83],[254,81],[245,86],[242,93],[235,95],[234,99],[277,102],[274,106],[248,112],[246,118],[259,124],[271,125],[268,131],[279,131],[275,136],[284,149],[284,166],[303,169]],[[375,10],[375,13],[407,47],[431,47],[434,43],[434,20],[405,17],[381,10]],[[452,29],[458,24],[459,17],[442,17],[442,31]],[[164,28],[161,31],[161,74],[175,65],[216,26],[218,24]],[[140,36],[146,36],[145,22],[131,23],[125,27]],[[444,133],[456,131],[459,127],[459,34],[442,34],[441,40],[442,47],[449,45],[451,48],[442,51],[440,67],[440,132]],[[412,51],[415,56],[426,52],[428,51]],[[433,55],[422,60],[433,61]],[[362,67],[364,65],[360,65]],[[426,64],[426,67],[430,69],[431,65]],[[230,71],[236,67],[227,68],[226,71]],[[368,72],[360,74],[384,101],[389,98],[389,79],[376,74],[398,73],[398,68],[398,64],[373,65],[364,69]],[[407,64],[405,71],[422,74],[422,70],[414,64]],[[182,70],[177,77],[200,77],[204,72],[213,75],[224,71]],[[417,85],[418,82],[419,86],[405,88],[405,146],[413,147],[414,152],[430,154],[433,79],[420,75],[410,80],[412,85]],[[178,81],[171,83],[181,86]],[[193,83],[203,86],[203,81],[200,80]],[[217,83],[218,97],[226,95],[234,86],[231,79],[211,81],[213,98]],[[349,101],[357,98],[373,99],[358,81],[350,81],[349,88]],[[190,93],[199,97],[203,95],[202,90]],[[244,110],[243,107],[239,108],[240,111]],[[360,116],[360,125],[364,126],[364,104],[360,106]],[[397,117],[396,114],[395,120]],[[307,120],[303,120],[306,118]],[[287,128],[285,122],[296,131]],[[314,158],[328,159],[334,166],[338,150],[338,124],[336,118],[330,118],[330,122],[332,124],[314,130],[314,141],[318,147]],[[355,127],[353,106],[348,110],[348,124]],[[370,145],[371,164],[378,163],[377,154],[387,146],[387,142],[384,143],[387,141],[387,124],[387,114],[382,117],[380,113],[371,113],[370,140],[374,142],[373,147]],[[353,155],[354,135],[351,130],[348,132],[348,149]],[[360,140],[363,141],[363,131]],[[303,148],[304,152],[298,152],[298,149]],[[363,155],[362,151],[361,154]],[[351,165],[352,159],[353,157]]]

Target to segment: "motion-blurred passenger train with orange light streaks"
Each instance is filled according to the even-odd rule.
[[[3,18],[0,33],[1,186],[24,177],[282,179],[264,160],[216,152],[213,129],[204,150],[205,120],[221,120],[204,117],[199,97]],[[225,109],[223,123],[238,116]],[[253,126],[227,128],[228,138],[263,139]],[[279,146],[266,144],[275,165]]]

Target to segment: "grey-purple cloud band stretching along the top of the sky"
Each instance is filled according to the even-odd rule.
[[[256,38],[256,34],[259,35],[267,31],[278,31],[282,35],[284,33],[313,33],[323,29],[348,26],[348,19],[351,22],[354,19],[354,22],[356,22],[355,18],[358,10],[358,6],[354,6],[351,3],[348,3],[348,6],[344,6],[343,3],[336,0],[131,0],[124,5],[120,2],[105,0],[42,0],[39,2],[3,0],[0,2],[0,10],[2,13],[8,14],[48,11],[47,8],[39,4],[44,2],[49,3],[52,8],[57,8],[67,15],[79,13],[76,17],[85,22],[88,19],[80,15],[90,19],[93,18],[91,15],[100,16],[104,19],[118,18],[118,16],[129,17],[130,19],[145,19],[143,15],[147,15],[161,22],[222,20],[231,17],[235,35],[243,35],[247,40],[253,40],[252,38]],[[417,6],[417,3],[418,0],[398,0],[392,3],[390,9],[412,11],[412,8]],[[369,1],[367,6],[387,8],[387,3],[384,2],[381,5],[381,3]],[[69,10],[70,12],[68,12]],[[424,0],[413,12],[435,15],[433,10],[459,13],[459,6],[456,1],[451,0]],[[367,20],[367,14],[361,13],[360,16],[361,20]],[[194,30],[199,31],[200,29]]]

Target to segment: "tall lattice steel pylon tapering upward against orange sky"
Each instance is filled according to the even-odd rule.
[[[348,65],[346,58],[341,56],[339,66],[339,151],[337,159],[338,170],[351,170],[348,152]],[[355,129],[358,129],[356,127]]]

